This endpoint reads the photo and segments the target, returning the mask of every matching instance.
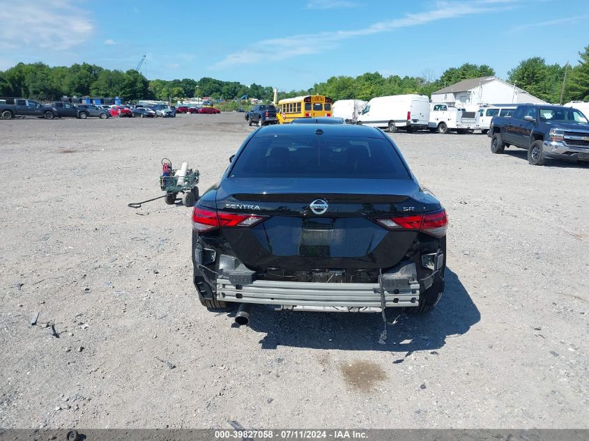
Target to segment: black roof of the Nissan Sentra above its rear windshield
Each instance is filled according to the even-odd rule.
[[[254,137],[273,137],[280,134],[312,135],[317,130],[335,137],[385,138],[385,134],[374,127],[351,124],[273,124],[260,127]]]

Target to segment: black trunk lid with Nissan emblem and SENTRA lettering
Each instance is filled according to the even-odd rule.
[[[216,206],[266,217],[251,228],[222,228],[236,257],[258,271],[390,268],[418,233],[372,219],[440,208],[411,179],[337,178],[224,179]]]

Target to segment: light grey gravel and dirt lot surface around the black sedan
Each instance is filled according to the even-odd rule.
[[[234,327],[195,295],[190,210],[127,207],[162,194],[162,157],[206,189],[251,130],[0,121],[0,427],[588,427],[588,166],[394,134],[448,210],[448,277],[381,345],[378,314],[259,308]]]

